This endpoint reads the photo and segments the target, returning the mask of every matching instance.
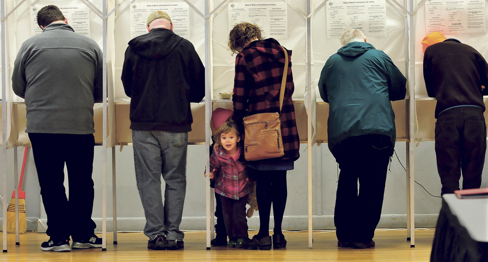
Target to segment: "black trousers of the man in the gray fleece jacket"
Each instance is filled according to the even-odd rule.
[[[93,134],[29,133],[47,215],[46,234],[54,241],[86,240],[96,227],[93,210]],[[56,146],[54,146],[56,145]],[[69,200],[63,185],[68,172]]]

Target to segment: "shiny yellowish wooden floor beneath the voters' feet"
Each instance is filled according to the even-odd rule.
[[[107,251],[100,248],[73,250],[71,252],[41,251],[45,234],[27,232],[20,236],[20,245],[15,245],[15,234],[8,235],[7,253],[0,261],[330,261],[330,262],[427,262],[430,258],[433,229],[415,231],[415,247],[406,241],[405,229],[377,229],[376,248],[338,248],[334,231],[314,231],[313,248],[308,247],[308,232],[283,232],[288,245],[286,249],[243,250],[227,247],[212,247],[206,250],[205,232],[185,232],[185,248],[182,250],[148,250],[147,237],[143,233],[118,233],[117,245],[112,244],[112,234],[107,234]],[[249,232],[253,236],[256,232]],[[101,234],[98,234],[101,236]]]

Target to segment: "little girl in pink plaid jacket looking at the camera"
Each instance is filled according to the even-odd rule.
[[[215,127],[215,126],[214,126]],[[252,190],[245,166],[239,161],[241,137],[236,124],[230,118],[217,128],[210,156],[210,179],[215,179],[215,193],[220,195],[228,247],[242,248],[247,239],[245,205]]]

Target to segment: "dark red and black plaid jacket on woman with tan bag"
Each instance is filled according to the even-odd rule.
[[[288,50],[288,75],[281,109],[281,132],[285,155],[282,159],[299,158],[298,131],[291,95],[295,89],[291,73],[291,50]],[[279,112],[280,88],[285,66],[285,52],[272,38],[251,42],[237,54],[234,76],[233,119],[244,134],[243,118],[248,115]]]

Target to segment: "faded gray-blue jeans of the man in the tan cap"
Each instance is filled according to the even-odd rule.
[[[186,193],[188,133],[132,130],[137,189],[146,216],[144,234],[183,240],[179,230]],[[161,174],[166,182],[164,205]]]

